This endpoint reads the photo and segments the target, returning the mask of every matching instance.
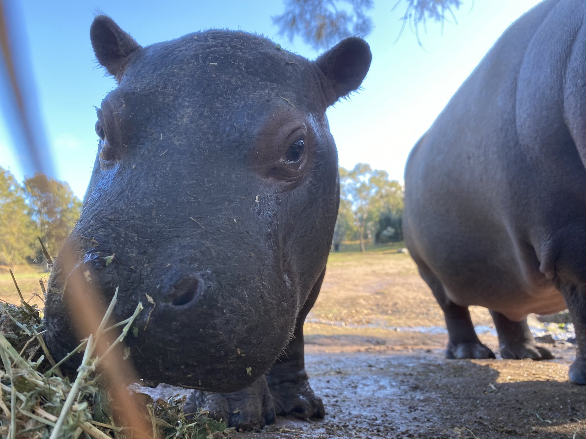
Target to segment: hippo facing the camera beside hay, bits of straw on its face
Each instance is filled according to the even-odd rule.
[[[120,287],[118,319],[147,306],[127,338],[139,376],[199,389],[196,402],[239,428],[275,411],[323,417],[303,323],[338,210],[325,111],[360,86],[369,46],[351,37],[308,61],[207,30],[141,47],[103,15],[90,35],[118,87],[97,109],[96,163],[65,248],[106,302]],[[76,340],[59,261],[45,320],[61,358]]]

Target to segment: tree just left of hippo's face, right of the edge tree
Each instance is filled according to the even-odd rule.
[[[42,239],[49,252],[57,253],[81,213],[81,201],[69,184],[35,174],[24,181],[25,193]]]

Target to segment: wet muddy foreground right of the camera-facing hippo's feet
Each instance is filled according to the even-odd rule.
[[[441,348],[314,338],[306,362],[325,419],[280,418],[236,437],[586,437],[586,389],[567,382],[565,363],[446,360]]]

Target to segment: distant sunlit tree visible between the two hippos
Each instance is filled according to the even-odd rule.
[[[358,163],[352,170],[340,167],[339,173],[340,204],[342,200],[347,201],[360,240],[360,249],[364,251],[367,228],[378,221],[384,212],[403,211],[403,186],[396,180],[389,180],[386,171],[373,170],[366,163]]]

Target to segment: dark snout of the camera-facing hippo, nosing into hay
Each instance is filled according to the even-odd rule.
[[[57,358],[79,343],[79,332],[71,323],[76,310],[71,309],[70,298],[72,289],[79,287],[70,282],[74,275],[88,290],[100,292],[104,307],[118,287],[113,313],[117,321],[142,303],[144,310],[125,344],[139,378],[151,382],[221,392],[241,389],[270,368],[293,331],[293,288],[271,284],[260,269],[247,275],[226,270],[225,265],[196,269],[198,260],[209,258],[137,268],[124,255],[108,260],[106,254],[113,253],[105,248],[99,254],[86,253],[84,262],[69,274],[57,260],[45,317],[47,342]],[[76,368],[77,362],[71,361],[69,367]]]

